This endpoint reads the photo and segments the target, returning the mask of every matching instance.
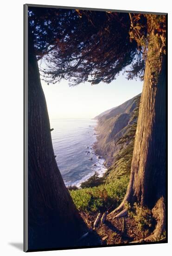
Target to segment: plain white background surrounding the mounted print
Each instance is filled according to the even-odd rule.
[[[172,250],[172,7],[167,0],[32,0],[32,4],[168,12],[169,27],[169,243],[99,249],[34,252],[60,256],[169,255]],[[19,255],[23,242],[23,0],[0,3],[0,254]],[[28,2],[27,2],[28,3]],[[159,103],[160,104],[160,103]]]

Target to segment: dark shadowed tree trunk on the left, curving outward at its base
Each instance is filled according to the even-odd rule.
[[[75,245],[83,222],[55,160],[32,34],[28,44],[29,249],[66,247]]]

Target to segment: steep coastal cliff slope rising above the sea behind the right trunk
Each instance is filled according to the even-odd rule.
[[[129,172],[137,127],[140,95],[96,116],[97,154],[106,160],[105,176],[115,178]]]

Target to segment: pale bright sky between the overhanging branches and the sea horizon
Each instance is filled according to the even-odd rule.
[[[69,87],[65,80],[54,85],[41,81],[50,119],[91,119],[140,94],[143,81],[125,77],[121,73],[110,84],[85,82],[75,87]]]

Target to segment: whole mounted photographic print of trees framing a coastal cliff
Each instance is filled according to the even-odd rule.
[[[24,250],[167,243],[167,14],[24,6]]]

